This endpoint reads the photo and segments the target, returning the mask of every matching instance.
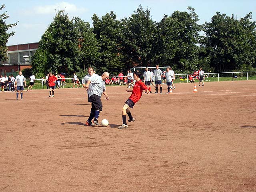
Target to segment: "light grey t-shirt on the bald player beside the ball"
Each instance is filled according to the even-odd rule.
[[[98,76],[97,74],[92,75],[90,81],[92,87],[89,89],[89,97],[93,94],[101,97],[102,93],[106,90],[105,82],[102,80],[101,76]]]

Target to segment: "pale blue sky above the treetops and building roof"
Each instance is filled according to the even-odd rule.
[[[65,10],[70,19],[79,17],[84,22],[90,22],[91,27],[94,13],[101,18],[113,11],[121,20],[136,13],[140,5],[144,10],[150,10],[155,22],[159,22],[164,15],[171,16],[174,11],[187,11],[189,6],[195,9],[200,19],[198,24],[210,22],[216,12],[226,16],[234,14],[237,19],[252,12],[252,21],[256,21],[255,0],[0,0],[2,4],[5,8],[0,14],[7,12],[9,15],[6,24],[18,22],[8,31],[16,34],[9,38],[7,45],[39,42],[58,10]]]

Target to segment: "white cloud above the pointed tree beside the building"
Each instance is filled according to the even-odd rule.
[[[65,13],[83,13],[88,11],[86,8],[77,7],[74,4],[70,4],[69,2],[60,2],[54,5],[46,5],[46,6],[36,6],[33,8],[34,13],[36,14],[52,14],[58,12],[59,10],[65,10]]]

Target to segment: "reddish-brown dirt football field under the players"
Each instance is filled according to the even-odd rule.
[[[124,130],[126,87],[102,96],[106,128],[84,126],[84,88],[0,92],[0,191],[255,192],[256,81],[196,86],[143,94]]]

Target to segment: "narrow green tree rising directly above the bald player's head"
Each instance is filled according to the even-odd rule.
[[[100,44],[100,61],[96,69],[98,73],[112,71],[117,74],[124,68],[124,56],[120,51],[121,34],[120,21],[116,20],[114,12],[102,16],[101,20],[96,14],[92,16],[93,32]]]

